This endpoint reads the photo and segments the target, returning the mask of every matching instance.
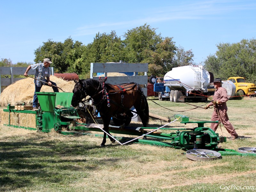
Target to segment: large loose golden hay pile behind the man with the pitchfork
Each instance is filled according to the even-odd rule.
[[[61,78],[50,76],[50,80],[55,82],[65,92],[72,92],[75,86],[74,81],[65,81]],[[59,90],[61,92],[61,90]],[[9,85],[4,89],[0,96],[0,105],[5,107],[10,103],[11,105],[31,105],[33,102],[35,92],[34,79],[24,78]],[[53,92],[52,87],[44,86],[41,92]]]

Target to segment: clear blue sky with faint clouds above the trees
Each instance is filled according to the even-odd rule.
[[[196,63],[217,51],[216,44],[255,38],[254,0],[1,0],[0,59],[34,63],[34,51],[48,39],[69,36],[87,45],[96,33],[127,30],[147,23],[176,46],[192,49]]]

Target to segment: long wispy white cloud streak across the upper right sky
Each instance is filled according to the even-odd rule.
[[[171,2],[171,1],[170,1]],[[189,3],[188,3],[189,2]],[[161,3],[161,1],[160,1]],[[230,12],[255,9],[254,1],[239,0],[209,0],[209,1],[181,1],[178,5],[156,7],[142,11],[134,10],[137,19],[117,22],[102,22],[96,25],[84,25],[75,31],[75,36],[86,36],[102,33],[113,27],[129,28],[145,23],[166,22],[171,20],[212,20],[222,19]],[[129,14],[129,13],[126,13]],[[130,13],[131,14],[131,13]],[[117,19],[118,20],[118,17]]]

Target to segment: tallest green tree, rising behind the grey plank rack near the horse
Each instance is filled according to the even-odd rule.
[[[163,76],[174,65],[175,42],[156,34],[150,25],[128,30],[124,34],[126,62],[148,63],[148,75]]]

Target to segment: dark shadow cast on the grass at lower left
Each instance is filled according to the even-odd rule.
[[[104,150],[111,153],[115,149],[102,149],[90,142],[46,142],[35,138],[15,141],[6,138],[6,141],[0,142],[0,190],[16,190],[45,183],[68,184],[87,177],[90,171],[101,166],[120,161],[120,157],[102,158],[106,156]],[[92,160],[86,157],[92,157]]]

